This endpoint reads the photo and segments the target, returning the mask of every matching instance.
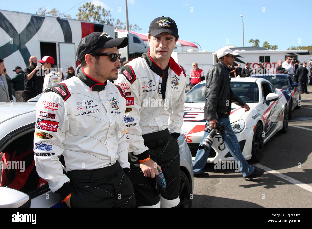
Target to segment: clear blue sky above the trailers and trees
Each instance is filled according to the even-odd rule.
[[[0,9],[35,13],[39,7],[56,8],[65,12],[82,0],[37,1],[25,3],[12,0],[0,3]],[[115,19],[125,21],[124,0],[86,0],[110,10]],[[78,7],[66,14],[76,18]],[[121,8],[119,8],[121,7]],[[278,49],[290,46],[312,45],[311,0],[294,1],[144,1],[128,0],[129,23],[139,25],[147,33],[150,22],[159,16],[176,21],[179,36],[183,40],[200,44],[202,49],[217,50],[225,45],[242,46],[242,21],[244,20],[245,46],[250,39],[259,39],[278,45]],[[121,9],[121,12],[120,12]],[[301,43],[300,43],[301,42]]]

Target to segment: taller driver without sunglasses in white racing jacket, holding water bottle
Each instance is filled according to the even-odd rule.
[[[149,26],[149,50],[120,69],[117,84],[126,89],[130,177],[138,207],[178,207],[186,73],[171,57],[178,28],[170,17]],[[166,192],[155,175],[163,172]]]

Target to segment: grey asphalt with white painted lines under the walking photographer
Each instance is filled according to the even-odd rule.
[[[203,169],[209,178],[194,178],[192,207],[312,207],[312,86],[302,106],[292,112],[289,130],[276,133],[265,145],[259,163],[266,172],[245,181],[240,172]]]

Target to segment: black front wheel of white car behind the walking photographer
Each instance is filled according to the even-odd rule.
[[[263,128],[258,122],[252,138],[252,147],[251,147],[251,162],[259,162],[263,153]]]

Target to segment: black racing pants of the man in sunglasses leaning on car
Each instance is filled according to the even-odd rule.
[[[71,208],[134,208],[134,189],[118,161],[102,169],[67,173],[72,187]]]

